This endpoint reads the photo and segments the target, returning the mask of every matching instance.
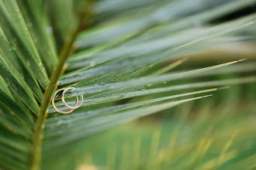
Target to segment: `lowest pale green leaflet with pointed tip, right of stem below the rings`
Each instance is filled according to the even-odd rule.
[[[58,136],[57,138],[56,138],[56,135],[54,135],[54,142],[50,142],[50,140],[46,138],[44,147],[46,150],[53,147],[54,148],[61,147],[63,145],[67,145],[72,141],[76,141],[81,137],[85,138],[88,135],[92,135],[99,131],[105,130],[106,128],[111,128],[118,124],[123,124],[128,121],[133,121],[138,117],[154,114],[160,110],[165,110],[170,107],[175,107],[178,104],[182,104],[191,100],[197,100],[201,98],[203,97],[194,97],[186,100],[177,100],[177,101],[169,102],[167,104],[157,104],[150,107],[138,108],[135,110],[127,110],[123,112],[118,112],[116,114],[108,114],[108,115],[103,115],[102,117],[95,117],[92,119],[88,119],[83,122],[82,127],[79,128],[80,131],[78,131],[78,129],[77,130],[74,129],[73,131],[72,128],[70,130],[66,129],[65,135],[61,134],[61,136]],[[74,133],[75,131],[76,133]],[[44,134],[46,137],[47,137],[47,133],[50,133],[50,131],[48,132],[46,129]]]

